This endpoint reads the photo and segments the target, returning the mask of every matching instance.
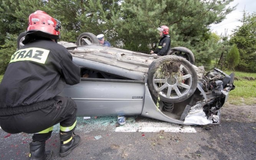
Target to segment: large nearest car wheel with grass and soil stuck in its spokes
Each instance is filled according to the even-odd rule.
[[[166,55],[149,66],[149,89],[164,102],[188,99],[197,89],[197,73],[185,58]]]

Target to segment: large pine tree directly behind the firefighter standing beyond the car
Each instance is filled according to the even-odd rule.
[[[200,57],[196,63],[207,65],[211,60],[209,55],[214,52],[209,25],[220,23],[234,10],[234,7],[225,9],[232,1],[124,0],[123,16],[116,21],[116,31],[124,48],[149,52],[159,42],[156,28],[167,25],[171,46],[191,49],[195,57]]]

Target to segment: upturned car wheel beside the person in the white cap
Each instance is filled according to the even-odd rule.
[[[81,33],[78,36],[77,45],[99,44],[97,37],[89,32]]]

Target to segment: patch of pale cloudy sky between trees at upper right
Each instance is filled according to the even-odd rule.
[[[216,32],[218,35],[224,35],[225,29],[228,29],[227,34],[230,35],[233,29],[236,28],[236,26],[241,26],[242,23],[238,21],[238,19],[243,18],[243,10],[245,10],[248,13],[256,12],[256,0],[234,0],[230,3],[230,6],[236,6],[236,9],[233,10],[229,15],[226,16],[226,19],[224,19],[219,24],[212,24],[210,29],[211,32]]]

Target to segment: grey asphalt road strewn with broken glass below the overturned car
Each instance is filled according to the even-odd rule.
[[[219,125],[182,126],[176,132],[140,132],[141,122],[164,122],[144,117],[128,117],[124,126],[116,126],[116,117],[98,117],[89,120],[78,118],[76,134],[81,143],[68,156],[61,158],[59,151],[59,128],[55,126],[46,149],[54,152],[55,160],[184,160],[184,159],[256,159],[256,124],[237,122],[221,117]],[[117,128],[131,125],[135,132],[116,132]],[[190,127],[196,132],[182,132]],[[31,134],[7,134],[0,129],[0,159],[29,159]]]

